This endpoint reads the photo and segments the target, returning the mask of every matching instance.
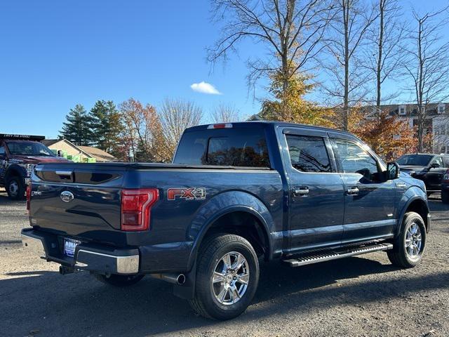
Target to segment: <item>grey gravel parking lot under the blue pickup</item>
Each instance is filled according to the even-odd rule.
[[[116,289],[29,256],[20,242],[25,202],[0,191],[0,336],[449,336],[449,206],[434,198],[430,207],[422,265],[399,270],[385,253],[262,265],[248,310],[212,322],[170,284],[145,278]]]

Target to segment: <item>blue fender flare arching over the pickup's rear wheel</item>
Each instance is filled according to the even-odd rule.
[[[264,227],[264,231],[268,237],[269,258],[272,258],[272,236],[274,228],[274,220],[267,207],[257,199],[253,194],[241,191],[229,191],[217,194],[206,204],[196,211],[196,216],[188,230],[188,237],[193,239],[194,244],[190,253],[188,269],[190,270],[196,260],[199,246],[206,235],[208,229],[213,225],[215,220],[227,213],[243,211],[257,217]]]

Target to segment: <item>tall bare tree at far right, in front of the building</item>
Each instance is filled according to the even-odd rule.
[[[449,42],[441,34],[449,21],[448,9],[449,6],[422,15],[414,10],[414,28],[409,31],[411,44],[404,49],[407,58],[403,67],[417,104],[418,151],[424,147],[429,105],[449,97]]]

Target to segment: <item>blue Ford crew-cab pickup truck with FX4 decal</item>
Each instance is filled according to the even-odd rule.
[[[213,319],[246,310],[263,261],[414,267],[431,227],[421,180],[349,133],[280,122],[188,128],[173,164],[40,164],[27,198],[23,245],[62,274],[163,279]]]

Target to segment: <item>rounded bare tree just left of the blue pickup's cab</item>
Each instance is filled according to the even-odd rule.
[[[166,138],[167,151],[173,156],[182,133],[190,126],[198,125],[203,110],[188,100],[166,99],[159,109],[159,118]]]

